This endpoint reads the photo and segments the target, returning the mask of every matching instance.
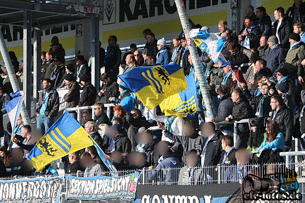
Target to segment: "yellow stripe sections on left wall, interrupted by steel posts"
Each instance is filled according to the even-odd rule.
[[[75,36],[61,38],[59,39],[59,43],[63,45],[63,48],[65,50],[75,48]],[[41,51],[48,52],[51,48],[50,45],[51,45],[51,40],[41,42]],[[15,52],[17,58],[23,57],[23,45],[16,47],[9,47],[7,48],[7,50]],[[1,53],[0,53],[0,60],[3,60]]]

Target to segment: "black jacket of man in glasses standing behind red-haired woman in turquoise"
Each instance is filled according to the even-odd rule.
[[[272,114],[270,116],[270,120],[273,118],[274,110],[272,110]],[[274,117],[274,121],[278,123],[281,132],[285,137],[285,145],[290,147],[292,141],[292,134],[293,134],[293,115],[292,112],[287,108],[285,104],[282,105],[278,112]]]

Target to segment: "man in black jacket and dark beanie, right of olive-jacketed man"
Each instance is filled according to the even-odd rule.
[[[80,78],[81,84],[83,85],[83,92],[78,102],[78,106],[92,106],[95,103],[96,89],[91,84],[89,76],[84,75]]]

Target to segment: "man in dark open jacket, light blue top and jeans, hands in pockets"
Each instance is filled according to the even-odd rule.
[[[59,111],[58,92],[51,83],[52,81],[49,78],[42,81],[43,91],[40,93],[36,109],[37,130],[42,132],[49,130]]]

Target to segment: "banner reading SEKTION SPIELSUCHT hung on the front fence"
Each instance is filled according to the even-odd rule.
[[[102,200],[109,198],[135,198],[139,173],[127,176],[75,177],[66,176],[66,199]]]

